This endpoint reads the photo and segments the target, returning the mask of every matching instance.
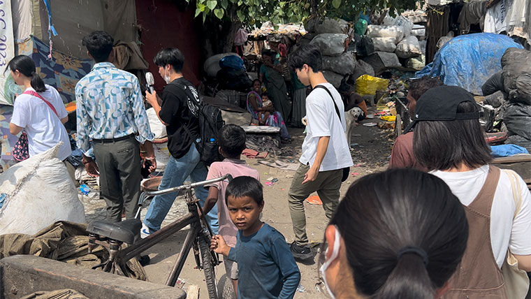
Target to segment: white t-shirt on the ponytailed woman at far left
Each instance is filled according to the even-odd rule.
[[[45,92],[39,94],[54,106],[59,117],[42,99],[29,94],[20,94],[15,100],[11,122],[24,128],[27,133],[29,156],[45,152],[62,141],[63,145],[59,149],[57,158],[63,161],[72,153],[68,133],[61,123],[61,118],[66,117],[68,112],[59,92],[50,85],[45,86]],[[26,90],[35,92],[31,87]]]

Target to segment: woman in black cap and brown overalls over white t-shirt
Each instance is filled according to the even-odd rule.
[[[414,156],[449,185],[470,224],[467,251],[445,298],[507,298],[500,271],[507,250],[521,270],[531,271],[531,194],[516,173],[488,165],[478,106],[465,89],[432,88],[415,111]]]

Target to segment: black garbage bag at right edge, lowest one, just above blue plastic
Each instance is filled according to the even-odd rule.
[[[518,135],[531,140],[531,105],[509,103],[503,122],[507,126],[507,136]]]

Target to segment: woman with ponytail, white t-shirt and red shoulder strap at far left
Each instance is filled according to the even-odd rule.
[[[28,136],[29,156],[34,156],[54,147],[60,141],[63,145],[57,157],[64,161],[71,155],[70,140],[64,127],[68,121],[68,112],[56,89],[45,85],[38,73],[34,61],[26,55],[15,56],[8,64],[11,76],[17,83],[26,87],[25,93],[36,92],[48,101],[31,94],[19,94],[15,99],[13,117],[9,124],[9,131],[17,135],[24,130]]]

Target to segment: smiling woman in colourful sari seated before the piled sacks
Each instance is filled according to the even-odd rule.
[[[280,137],[283,143],[289,143],[291,140],[286,124],[282,115],[275,111],[272,105],[264,107],[261,96],[262,83],[256,79],[253,81],[253,89],[247,94],[247,110],[254,119],[259,120],[259,124],[263,126],[277,126],[280,128]]]

